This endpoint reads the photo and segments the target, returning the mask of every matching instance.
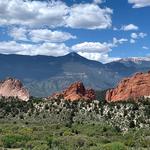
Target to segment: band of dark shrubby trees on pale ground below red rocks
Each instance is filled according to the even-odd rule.
[[[138,102],[130,100],[107,103],[101,98],[99,101],[43,100],[39,98],[36,101],[36,98],[32,98],[25,102],[17,98],[6,99],[2,97],[0,99],[0,118],[5,117],[14,121],[20,119],[22,122],[27,121],[29,123],[31,120],[45,123],[64,123],[69,128],[74,123],[106,121],[113,126],[117,124],[122,130],[148,125],[150,100],[142,97]]]

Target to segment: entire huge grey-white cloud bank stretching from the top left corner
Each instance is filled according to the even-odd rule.
[[[111,27],[110,8],[95,3],[67,6],[62,1],[0,1],[0,25],[105,29]]]

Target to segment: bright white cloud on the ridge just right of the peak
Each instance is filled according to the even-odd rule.
[[[126,41],[128,40],[123,38],[113,38],[112,43],[84,42],[72,46],[71,49],[87,59],[106,63],[119,59],[109,57],[108,53],[112,50],[113,47],[117,47],[119,44],[123,44]]]

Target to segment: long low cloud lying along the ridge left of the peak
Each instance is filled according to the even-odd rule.
[[[65,44],[43,43],[33,45],[9,41],[0,42],[0,53],[62,56],[69,53],[69,48]]]

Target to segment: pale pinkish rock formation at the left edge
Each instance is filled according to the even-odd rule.
[[[28,101],[29,92],[20,80],[8,78],[0,82],[0,97],[18,97],[20,100]]]

